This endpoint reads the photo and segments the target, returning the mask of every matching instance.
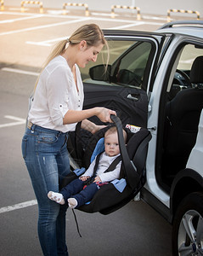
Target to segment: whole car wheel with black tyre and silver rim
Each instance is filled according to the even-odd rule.
[[[172,227],[173,255],[203,255],[203,194],[187,195],[180,203]]]

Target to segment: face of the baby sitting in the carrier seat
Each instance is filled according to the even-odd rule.
[[[104,138],[105,153],[114,156],[120,153],[117,133],[111,133]]]

